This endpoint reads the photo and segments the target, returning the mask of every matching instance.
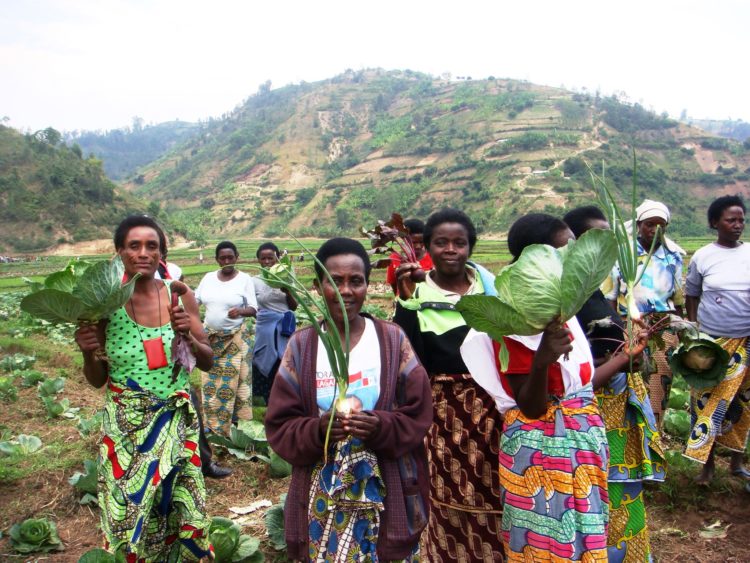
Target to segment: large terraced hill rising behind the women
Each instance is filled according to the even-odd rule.
[[[500,233],[529,210],[592,200],[585,162],[703,234],[706,202],[750,193],[741,144],[615,98],[515,80],[437,80],[368,70],[271,90],[270,84],[125,187],[158,202],[190,237],[328,236],[391,211],[445,205]]]

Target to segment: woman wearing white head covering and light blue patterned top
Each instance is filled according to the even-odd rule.
[[[651,248],[654,249],[646,271],[635,288],[638,310],[644,314],[671,312],[682,316],[682,307],[685,304],[682,289],[682,257],[685,251],[664,236],[671,218],[669,209],[659,201],[646,199],[636,208],[635,213],[639,271],[643,268]],[[630,230],[627,224],[626,228]],[[658,237],[657,231],[660,232]],[[611,286],[602,289],[618,312],[625,316],[627,286],[617,265],[612,273]],[[665,349],[652,350],[656,373],[651,376],[648,390],[658,426],[661,426],[662,415],[672,388],[672,370],[667,363],[667,351],[677,346],[677,338],[673,334],[665,332],[662,335]]]

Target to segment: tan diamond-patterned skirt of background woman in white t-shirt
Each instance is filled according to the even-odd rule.
[[[247,325],[236,330],[208,330],[214,364],[203,373],[203,423],[216,434],[229,436],[237,420],[253,418],[252,338]]]

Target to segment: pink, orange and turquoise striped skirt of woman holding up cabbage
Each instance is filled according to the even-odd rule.
[[[607,561],[607,436],[588,385],[538,419],[505,413],[500,440],[508,561]]]

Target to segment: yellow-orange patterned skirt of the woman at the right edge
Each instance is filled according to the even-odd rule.
[[[693,429],[685,455],[706,463],[714,443],[744,452],[750,433],[750,338],[717,338],[729,352],[727,375],[716,387],[690,392]]]

